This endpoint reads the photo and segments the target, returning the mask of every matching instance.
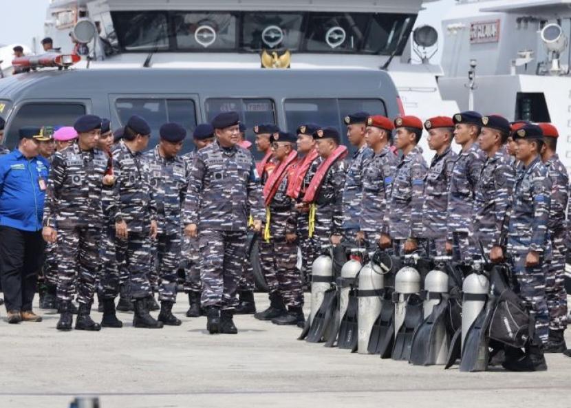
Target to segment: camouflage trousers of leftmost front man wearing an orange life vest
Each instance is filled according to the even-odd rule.
[[[297,244],[260,242],[260,264],[268,291],[279,292],[290,308],[303,306],[303,286],[297,269]]]

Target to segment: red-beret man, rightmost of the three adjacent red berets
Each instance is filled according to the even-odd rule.
[[[457,154],[451,149],[454,122],[447,116],[424,121],[429,148],[435,151],[424,179],[422,236],[427,239],[430,257],[446,254],[446,206],[452,166]]]

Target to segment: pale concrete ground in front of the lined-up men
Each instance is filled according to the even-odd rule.
[[[257,294],[259,310],[268,305]],[[298,328],[237,316],[237,335],[209,335],[206,318],[142,330],[58,332],[0,321],[0,407],[67,408],[96,395],[101,408],[130,407],[571,407],[571,358],[548,355],[548,371],[460,373],[297,341]],[[94,318],[100,314],[94,312]],[[569,333],[569,332],[568,332]],[[571,345],[571,336],[567,336]]]

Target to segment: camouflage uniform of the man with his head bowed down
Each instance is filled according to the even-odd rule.
[[[144,156],[149,166],[151,197],[157,206],[159,299],[175,302],[181,251],[180,213],[188,185],[186,164],[179,156],[163,158],[158,146]]]

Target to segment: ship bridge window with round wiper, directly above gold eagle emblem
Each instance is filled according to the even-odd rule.
[[[283,49],[297,51],[302,36],[303,14],[244,14],[240,47],[245,51]]]

